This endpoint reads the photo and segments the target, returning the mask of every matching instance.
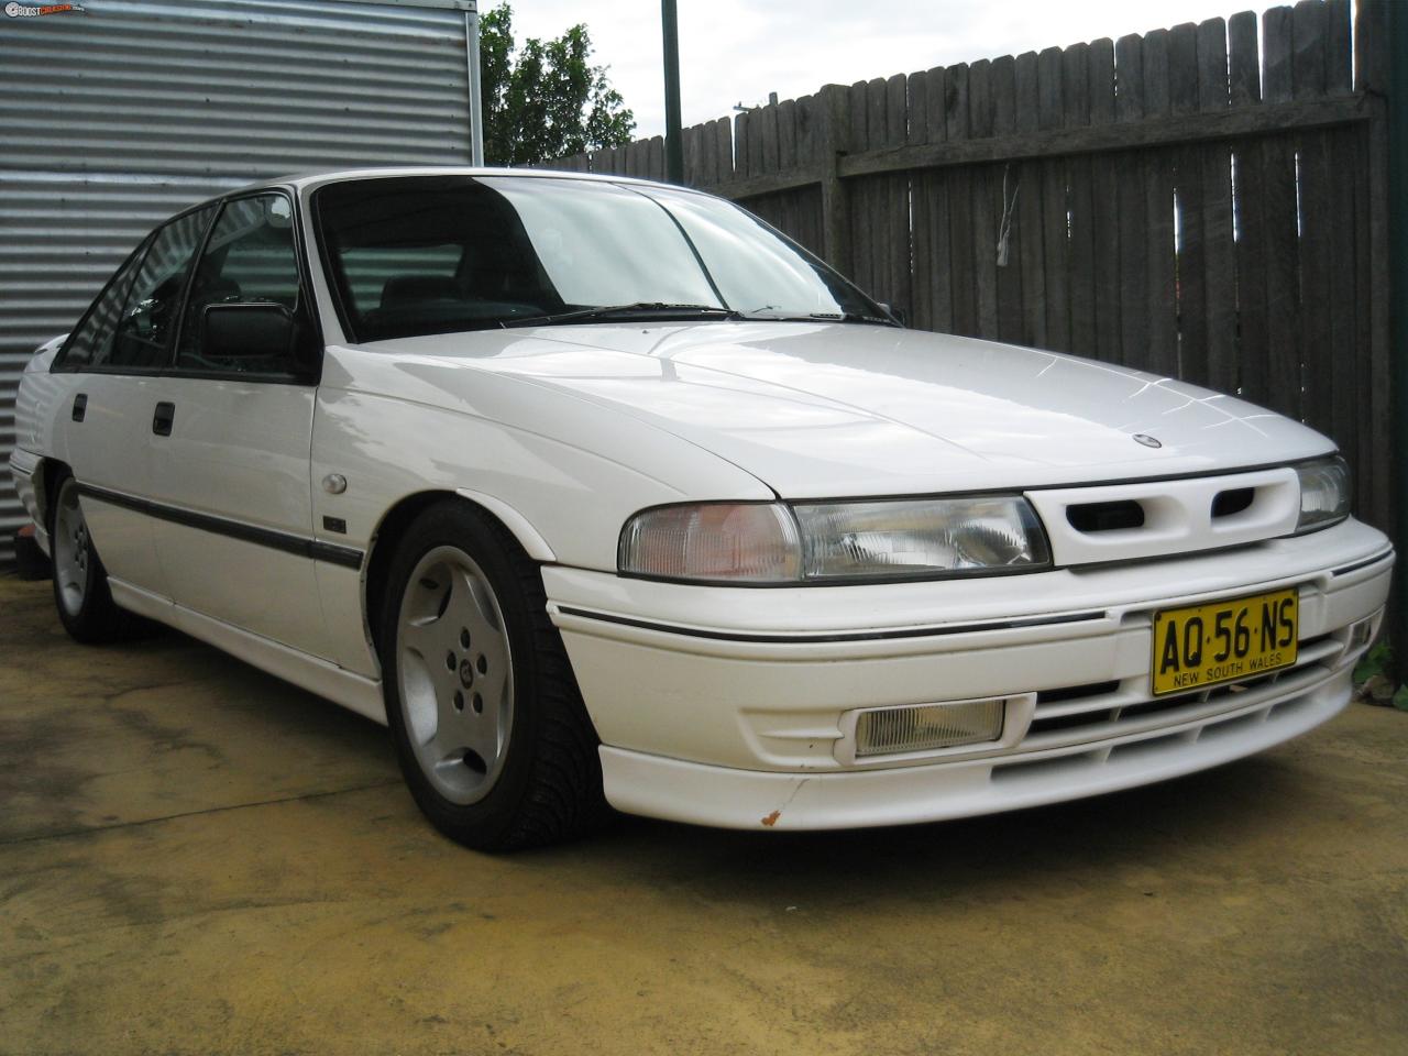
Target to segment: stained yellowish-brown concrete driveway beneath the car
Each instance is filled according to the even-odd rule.
[[[383,731],[0,579],[3,1053],[1408,1052],[1408,715],[1039,811],[489,857]]]

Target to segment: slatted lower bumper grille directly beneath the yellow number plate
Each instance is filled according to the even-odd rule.
[[[1260,687],[1318,677],[1325,670],[1325,662],[1336,659],[1342,650],[1343,643],[1332,635],[1308,638],[1300,643],[1291,667],[1173,697],[1150,697],[1146,676],[1045,690],[1036,694],[1036,711],[1021,741],[1021,750],[1119,736],[1133,729],[1156,729],[1232,711],[1246,703],[1245,694]]]

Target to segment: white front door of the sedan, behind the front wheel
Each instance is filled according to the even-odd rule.
[[[177,604],[327,656],[308,482],[317,353],[213,351],[211,306],[283,306],[303,318],[289,196],[228,200],[194,269],[173,367],[148,393],[162,425],[151,442],[165,507],[155,538]],[[311,341],[307,325],[300,332]]]

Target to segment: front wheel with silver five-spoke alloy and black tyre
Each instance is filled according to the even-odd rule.
[[[517,541],[466,503],[438,503],[401,539],[387,583],[386,717],[425,815],[483,850],[596,825],[597,738]]]

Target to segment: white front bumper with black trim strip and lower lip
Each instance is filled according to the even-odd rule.
[[[748,590],[546,567],[543,582],[614,805],[845,828],[1124,788],[1295,736],[1349,700],[1393,559],[1378,531],[1347,521],[983,580]],[[1295,667],[1155,704],[1155,610],[1284,587],[1300,591]],[[1018,694],[1036,694],[1035,710],[998,745],[856,762],[848,742],[857,708]]]

